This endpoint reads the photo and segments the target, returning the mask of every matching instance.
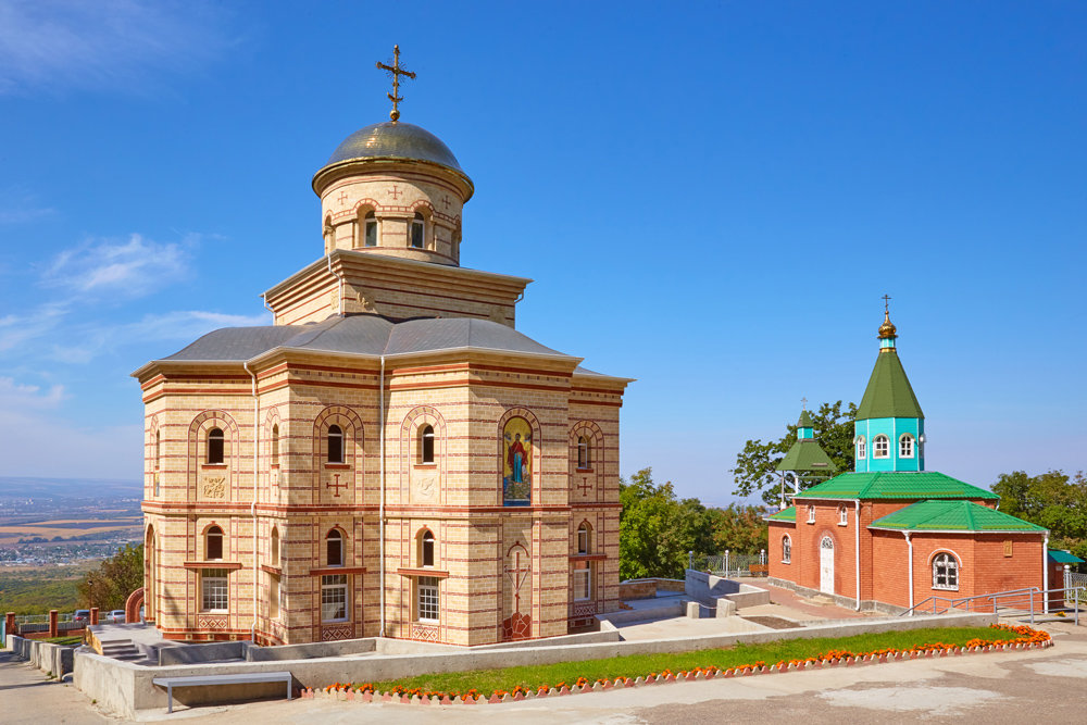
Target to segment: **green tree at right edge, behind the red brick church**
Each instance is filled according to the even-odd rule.
[[[1049,546],[1087,559],[1087,476],[1063,471],[1002,473],[992,486],[999,511],[1049,529]]]

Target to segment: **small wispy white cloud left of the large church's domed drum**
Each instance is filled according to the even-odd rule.
[[[58,254],[42,284],[80,295],[142,297],[188,275],[188,250],[197,239],[157,242],[138,234],[127,241],[91,239]]]

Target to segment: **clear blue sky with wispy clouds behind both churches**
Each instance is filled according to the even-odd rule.
[[[128,374],[322,252],[310,179],[387,117],[476,185],[462,263],[638,378],[622,471],[734,497],[858,401],[880,296],[928,465],[1084,465],[1087,5],[0,0],[0,475],[138,478]]]

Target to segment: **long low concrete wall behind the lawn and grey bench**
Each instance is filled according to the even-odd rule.
[[[599,660],[626,654],[689,652],[716,649],[737,643],[757,643],[782,639],[848,637],[871,632],[919,629],[932,626],[985,626],[996,622],[994,614],[945,614],[940,616],[901,617],[873,622],[853,621],[846,624],[783,629],[775,632],[724,634],[712,637],[680,637],[645,641],[619,641],[565,647],[530,647],[479,651],[460,650],[450,653],[412,653],[388,657],[366,655],[358,659],[278,660],[272,662],[238,662],[198,664],[170,667],[142,667],[103,658],[86,650],[76,652],[76,687],[99,705],[121,717],[135,718],[138,711],[165,708],[166,691],[155,687],[155,677],[214,676],[220,674],[275,672],[287,670],[295,684],[302,687],[324,687],[333,683],[364,683],[410,677],[422,673],[492,670],[518,665],[552,664],[578,660]],[[268,687],[239,685],[214,688],[195,687],[174,691],[186,704],[247,700],[255,697],[283,697],[280,685]]]

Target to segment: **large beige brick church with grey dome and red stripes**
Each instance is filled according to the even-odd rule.
[[[264,293],[274,324],[134,373],[147,620],[473,646],[615,610],[630,380],[517,332],[529,279],[460,266],[472,180],[396,109],[313,190],[324,255]]]

